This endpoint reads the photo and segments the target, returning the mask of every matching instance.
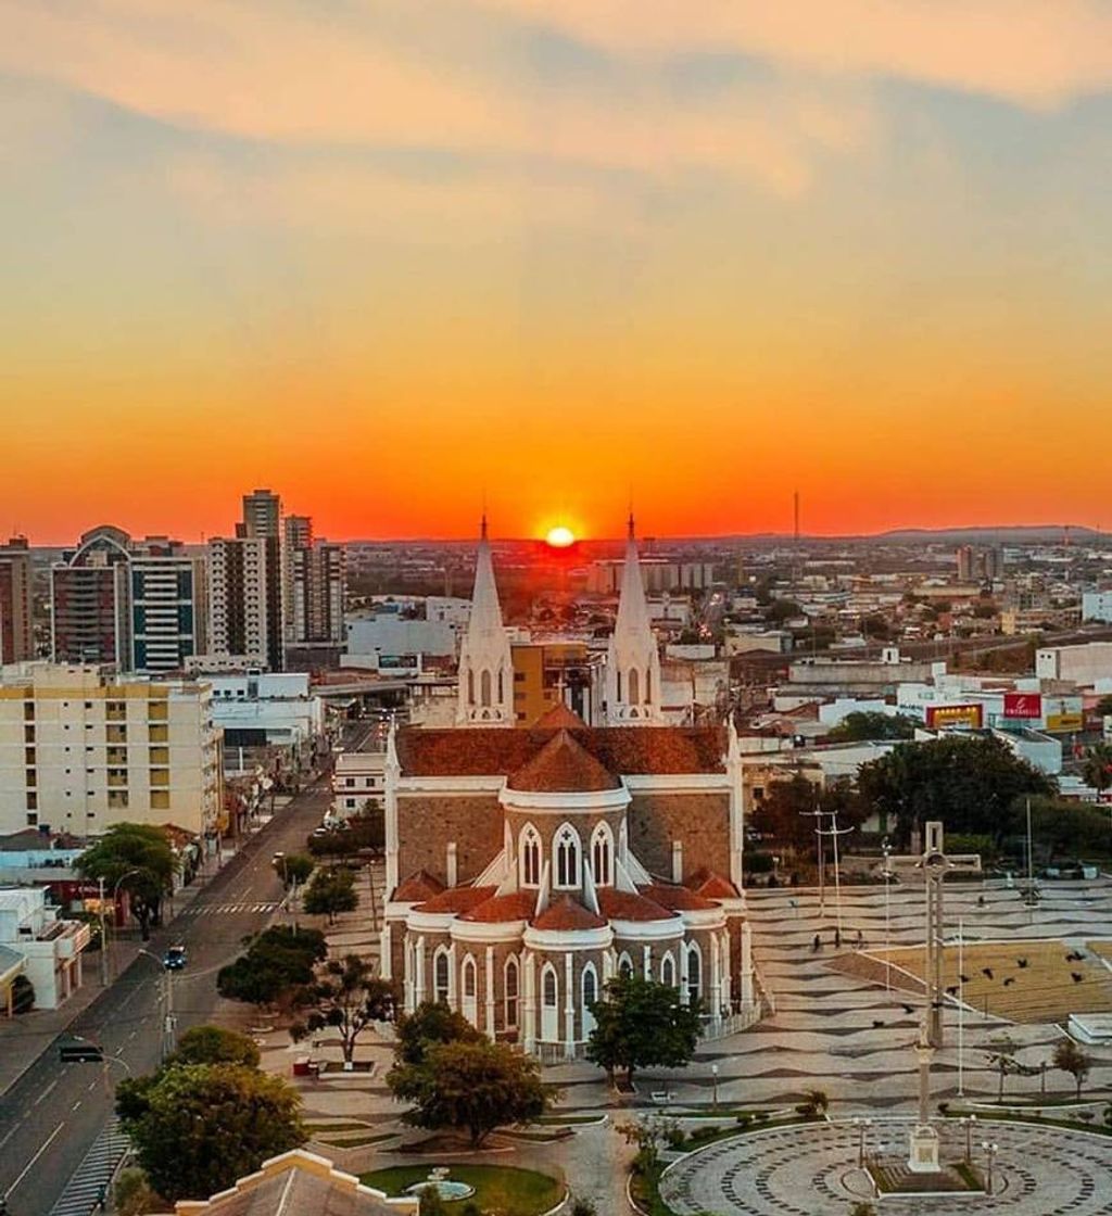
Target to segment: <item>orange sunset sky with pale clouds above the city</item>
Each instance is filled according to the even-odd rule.
[[[1106,0],[0,27],[0,534],[1112,528]]]

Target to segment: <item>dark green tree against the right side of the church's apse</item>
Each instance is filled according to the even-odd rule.
[[[639,1068],[683,1068],[695,1054],[701,1034],[700,1004],[683,1004],[679,990],[641,975],[608,980],[591,1007],[595,1028],[586,1058],[606,1069],[613,1082],[623,1069],[633,1085]]]

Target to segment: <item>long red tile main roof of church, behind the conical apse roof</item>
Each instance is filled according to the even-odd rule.
[[[726,737],[719,727],[599,726],[567,731],[616,775],[725,771]],[[404,776],[509,777],[555,733],[541,727],[404,727],[398,732],[398,759]]]

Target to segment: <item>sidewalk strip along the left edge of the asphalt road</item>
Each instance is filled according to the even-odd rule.
[[[266,822],[269,822],[269,817]],[[258,824],[258,828],[260,827],[263,827],[262,823]],[[258,828],[254,831],[257,832]],[[175,891],[170,901],[172,917],[163,922],[163,928],[172,924],[173,919],[180,916],[208,886],[210,879],[220,873],[253,838],[254,832],[242,840],[240,849],[235,852],[224,849],[220,869],[209,868],[189,886]],[[116,933],[119,931],[116,930]],[[137,928],[129,925],[128,931],[137,935]],[[134,939],[130,936],[113,938],[109,963],[116,978],[135,962],[139,951],[146,948],[146,945],[137,936]],[[30,1013],[21,1014],[11,1020],[0,1019],[0,1098],[32,1068],[55,1038],[73,1025],[105,991],[105,986],[101,984],[100,951],[91,953],[86,951],[82,956],[82,986],[60,1008],[33,1009]]]

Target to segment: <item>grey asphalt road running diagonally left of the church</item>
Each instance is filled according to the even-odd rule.
[[[363,731],[349,734],[346,742],[354,747]],[[180,942],[189,950],[189,966],[172,981],[180,1035],[212,1020],[219,1001],[217,970],[240,953],[245,936],[274,918],[282,888],[273,854],[302,851],[330,800],[324,777],[280,810],[213,876],[185,914],[152,931],[144,948],[155,957],[140,955],[78,1017],[71,1032],[103,1045],[109,1063],[62,1064],[51,1046],[0,1099],[0,1195],[7,1195],[11,1216],[50,1212],[111,1115],[114,1083],[129,1071],[157,1066],[167,946]]]

